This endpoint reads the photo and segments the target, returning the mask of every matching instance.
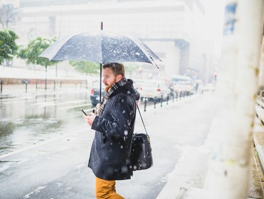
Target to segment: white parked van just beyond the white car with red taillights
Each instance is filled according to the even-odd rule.
[[[175,92],[189,92],[190,94],[195,92],[193,81],[188,76],[171,75],[171,85]]]

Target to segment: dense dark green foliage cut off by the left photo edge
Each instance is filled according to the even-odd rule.
[[[13,59],[13,55],[16,54],[18,49],[16,39],[18,39],[18,36],[12,30],[3,29],[0,31],[0,64],[4,60]]]

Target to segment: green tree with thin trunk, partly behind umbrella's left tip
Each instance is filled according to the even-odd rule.
[[[38,58],[38,56],[55,41],[55,38],[49,40],[37,37],[35,40],[30,41],[27,45],[20,46],[17,54],[18,58],[26,61],[26,64],[45,66],[45,90],[47,89],[47,66],[53,66],[58,62],[49,62],[47,58]]]

